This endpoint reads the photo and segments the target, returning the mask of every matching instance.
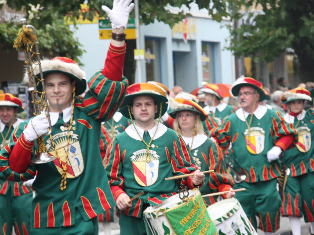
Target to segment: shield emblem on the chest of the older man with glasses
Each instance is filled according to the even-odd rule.
[[[244,131],[247,150],[252,154],[259,154],[264,150],[265,131],[261,127],[251,127],[250,135]]]

